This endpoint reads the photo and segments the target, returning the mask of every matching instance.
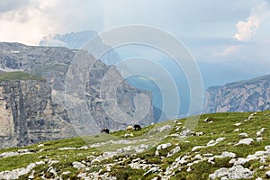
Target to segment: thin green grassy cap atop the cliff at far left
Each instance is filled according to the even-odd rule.
[[[45,78],[41,76],[31,75],[23,71],[14,71],[0,74],[0,81],[4,80],[39,80],[46,81]]]

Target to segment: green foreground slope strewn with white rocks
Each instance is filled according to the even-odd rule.
[[[269,179],[269,127],[269,111],[222,112],[1,149],[0,179]]]

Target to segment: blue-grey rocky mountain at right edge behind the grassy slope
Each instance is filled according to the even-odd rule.
[[[254,112],[270,109],[270,75],[210,87],[204,112]]]

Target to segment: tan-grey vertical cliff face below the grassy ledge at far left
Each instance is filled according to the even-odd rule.
[[[72,137],[72,126],[55,116],[50,87],[37,80],[0,81],[0,148]]]

